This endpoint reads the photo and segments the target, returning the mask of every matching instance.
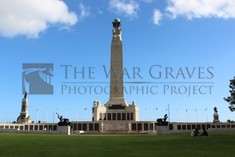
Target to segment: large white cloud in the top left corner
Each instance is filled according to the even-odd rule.
[[[76,22],[76,14],[61,0],[0,0],[0,35],[5,37],[38,37],[51,24]]]

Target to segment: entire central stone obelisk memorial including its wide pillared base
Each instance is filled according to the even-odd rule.
[[[93,103],[92,121],[102,121],[101,132],[126,132],[130,130],[130,121],[139,120],[139,109],[134,101],[128,104],[124,99],[121,21],[116,18],[112,23],[110,97],[105,105]]]

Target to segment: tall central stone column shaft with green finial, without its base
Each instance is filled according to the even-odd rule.
[[[111,44],[111,67],[110,67],[110,101],[124,103],[123,93],[123,52],[122,31],[120,19],[114,19],[113,37]]]

